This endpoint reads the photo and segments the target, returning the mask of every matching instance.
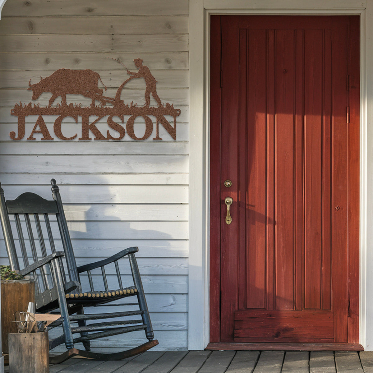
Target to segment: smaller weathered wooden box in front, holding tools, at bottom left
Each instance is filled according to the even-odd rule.
[[[48,332],[9,333],[9,373],[49,373]]]

